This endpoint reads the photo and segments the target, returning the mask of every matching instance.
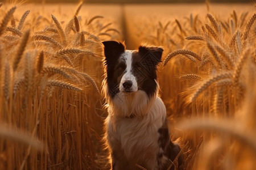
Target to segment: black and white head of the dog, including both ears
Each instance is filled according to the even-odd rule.
[[[108,95],[144,91],[151,97],[157,90],[156,66],[161,61],[163,49],[156,46],[139,46],[126,50],[118,41],[104,41],[106,83]]]

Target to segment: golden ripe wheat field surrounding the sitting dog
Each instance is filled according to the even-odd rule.
[[[0,169],[110,169],[101,42],[124,39],[164,48],[160,95],[183,169],[255,169],[255,7],[220,15],[207,1],[131,27],[129,7],[112,18],[84,6],[0,2]]]

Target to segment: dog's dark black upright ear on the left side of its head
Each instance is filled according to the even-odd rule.
[[[105,59],[107,62],[117,59],[122,53],[125,52],[125,45],[118,41],[104,41]]]

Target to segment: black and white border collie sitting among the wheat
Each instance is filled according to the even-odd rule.
[[[126,50],[118,41],[102,44],[102,90],[109,113],[105,140],[112,169],[168,169],[180,147],[170,140],[166,107],[158,96],[156,66],[163,49],[139,46],[138,50]]]

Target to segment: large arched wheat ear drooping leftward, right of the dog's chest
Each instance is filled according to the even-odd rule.
[[[204,80],[204,82],[197,88],[197,90],[192,94],[191,101],[194,101],[201,92],[203,92],[207,87],[209,87],[214,82],[217,82],[218,80],[225,79],[225,78],[231,78],[232,74],[230,72],[224,72],[217,75],[212,76],[211,78],[208,78]]]

